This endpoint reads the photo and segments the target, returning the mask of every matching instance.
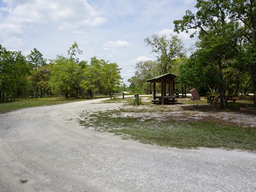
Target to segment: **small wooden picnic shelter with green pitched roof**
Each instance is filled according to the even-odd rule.
[[[153,100],[151,101],[161,105],[169,103],[175,104],[175,84],[178,84],[178,82],[175,81],[176,77],[177,75],[167,73],[148,79],[147,82],[154,83]],[[161,96],[156,95],[156,83],[161,83]]]

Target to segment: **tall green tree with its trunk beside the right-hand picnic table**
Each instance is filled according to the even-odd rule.
[[[235,66],[234,58],[239,53],[239,23],[228,19],[229,5],[229,0],[198,0],[196,14],[188,10],[181,20],[174,21],[174,31],[178,33],[180,30],[188,32],[189,29],[199,29],[196,55],[203,63],[202,67],[215,74],[221,108],[224,108],[228,77]]]

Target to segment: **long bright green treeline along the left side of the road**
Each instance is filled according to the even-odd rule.
[[[20,51],[7,51],[0,45],[0,100],[21,97],[65,95],[66,98],[119,92],[122,87],[121,68],[97,57],[90,62],[79,61],[82,50],[76,42],[68,57],[57,55],[48,63],[38,50],[27,57]]]

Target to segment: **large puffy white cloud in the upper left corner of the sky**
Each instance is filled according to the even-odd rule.
[[[95,27],[107,22],[102,12],[83,0],[61,1],[4,1],[9,15],[7,22],[33,27],[40,23],[54,22],[59,29]]]

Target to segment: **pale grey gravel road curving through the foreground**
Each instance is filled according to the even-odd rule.
[[[80,101],[0,114],[0,191],[256,191],[256,154],[176,149],[86,130]],[[20,183],[20,180],[27,180]]]

